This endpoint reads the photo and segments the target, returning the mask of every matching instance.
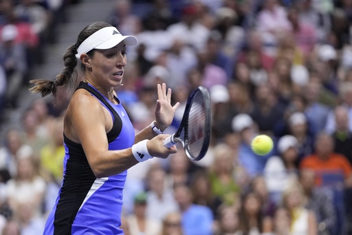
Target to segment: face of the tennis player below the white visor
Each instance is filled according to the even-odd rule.
[[[90,60],[91,74],[103,86],[115,87],[122,83],[126,68],[126,45],[122,41],[113,48],[96,50]]]

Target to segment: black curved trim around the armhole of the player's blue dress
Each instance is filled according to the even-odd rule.
[[[113,114],[113,117],[114,117],[113,127],[111,128],[111,130],[109,132],[107,132],[108,142],[111,143],[113,140],[115,140],[118,137],[118,135],[120,134],[120,132],[122,130],[122,120],[121,120],[120,116],[117,114],[115,109],[113,107],[111,107],[110,103],[104,98],[104,96],[102,96],[102,94],[100,94],[98,91],[96,91],[90,85],[88,85],[88,83],[81,81],[80,84],[78,85],[78,88],[76,88],[76,90],[78,90],[78,89],[85,89],[88,92],[90,92],[91,94],[93,94],[94,96],[96,96],[96,98],[99,101],[101,101],[102,103],[104,103],[104,105]]]

